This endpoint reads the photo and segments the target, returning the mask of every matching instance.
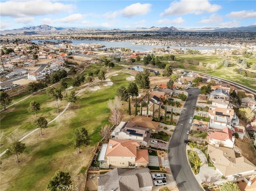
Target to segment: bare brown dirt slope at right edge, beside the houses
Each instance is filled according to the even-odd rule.
[[[241,140],[240,138],[236,138],[235,143],[236,146],[242,150],[242,156],[244,156],[246,159],[256,165],[256,151],[253,148],[252,142],[244,136],[243,140]]]

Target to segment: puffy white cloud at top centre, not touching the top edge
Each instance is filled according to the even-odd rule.
[[[124,17],[133,17],[133,16],[138,16],[138,15],[145,15],[148,12],[150,12],[150,7],[152,5],[149,3],[145,4],[140,4],[140,3],[135,3],[130,6],[127,6],[123,10],[120,10],[120,14]]]

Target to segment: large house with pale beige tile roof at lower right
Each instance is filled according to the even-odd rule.
[[[238,173],[253,173],[256,170],[256,166],[245,157],[236,158],[233,149],[215,147],[209,144],[207,152],[218,173],[225,177],[232,177]]]

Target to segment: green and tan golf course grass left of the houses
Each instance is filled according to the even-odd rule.
[[[38,131],[22,141],[27,148],[19,156],[20,163],[16,163],[15,155],[7,156],[5,154],[2,156],[1,190],[46,190],[46,183],[56,170],[68,171],[73,185],[82,187],[84,179],[79,172],[89,165],[95,146],[101,140],[98,132],[102,126],[108,124],[110,109],[106,102],[110,98],[114,98],[118,87],[128,86],[129,82],[126,81],[128,76],[128,74],[119,73],[117,76],[109,77],[114,85],[104,87],[98,83],[95,85],[99,85],[100,90],[86,89],[83,91],[71,108],[43,130],[43,136],[39,136],[40,132]],[[49,109],[53,104],[49,98],[44,93],[34,96],[36,101],[42,102],[42,110],[52,112],[47,116],[47,119],[50,120],[53,118],[52,115],[56,112],[56,108]],[[30,99],[15,105],[15,107],[10,107],[8,112],[1,113],[1,126],[4,127],[5,135],[12,131],[26,134],[34,129],[32,125],[29,125],[31,123],[29,120],[34,120],[34,115],[26,112],[26,105],[29,102]],[[15,121],[8,122],[13,118],[13,114],[19,117]],[[38,115],[40,116],[40,112]],[[24,124],[24,120],[27,121],[27,124],[20,125]],[[90,146],[81,147],[81,154],[77,154],[77,149],[72,148],[72,132],[78,127],[85,127],[92,140]],[[19,136],[22,137],[21,134]],[[8,143],[5,144],[5,147],[7,146]]]

